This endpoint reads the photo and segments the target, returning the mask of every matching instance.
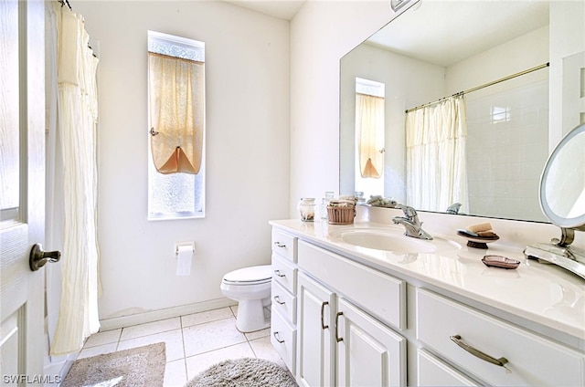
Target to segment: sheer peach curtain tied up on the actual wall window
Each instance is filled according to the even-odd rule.
[[[204,127],[204,63],[149,56],[151,152],[159,173],[197,174]]]

